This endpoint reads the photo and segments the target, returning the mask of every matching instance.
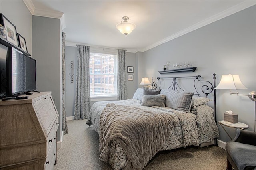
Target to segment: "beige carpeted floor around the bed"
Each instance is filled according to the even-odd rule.
[[[99,160],[99,136],[85,120],[68,121],[54,170],[111,170]],[[209,146],[158,152],[144,170],[225,170],[226,150]]]

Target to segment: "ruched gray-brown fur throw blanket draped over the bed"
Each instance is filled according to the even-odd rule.
[[[100,115],[100,152],[110,154],[112,140],[127,155],[127,169],[142,169],[164,146],[177,124],[171,112],[107,104]]]

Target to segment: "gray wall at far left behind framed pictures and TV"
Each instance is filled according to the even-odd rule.
[[[17,33],[20,33],[26,40],[28,53],[32,54],[32,15],[23,1],[0,1],[0,11],[12,24],[16,26]],[[6,69],[7,47],[1,44],[0,70]],[[33,55],[32,55],[33,57]],[[5,73],[5,72],[3,72]],[[2,81],[1,75],[1,81]],[[6,75],[5,75],[6,78]],[[5,89],[3,89],[5,91]]]

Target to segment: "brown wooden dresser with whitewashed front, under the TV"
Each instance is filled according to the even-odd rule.
[[[51,92],[0,101],[1,169],[52,170],[56,164],[58,112]]]

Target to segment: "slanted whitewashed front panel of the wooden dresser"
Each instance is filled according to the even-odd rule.
[[[36,101],[34,106],[48,136],[56,117],[58,117],[51,95]]]

